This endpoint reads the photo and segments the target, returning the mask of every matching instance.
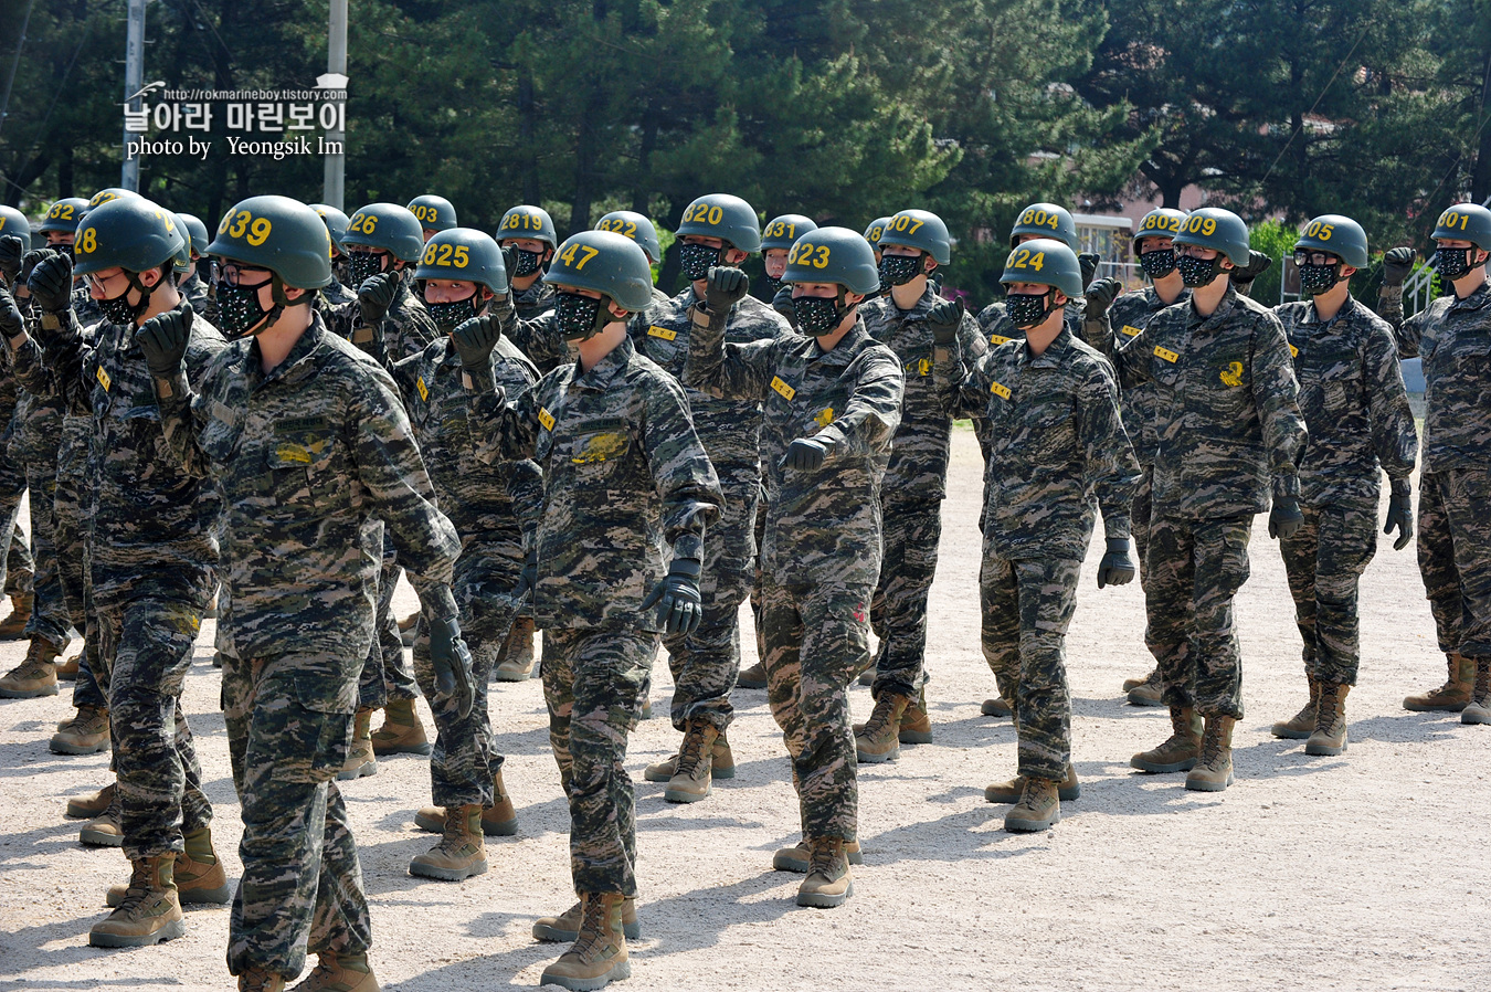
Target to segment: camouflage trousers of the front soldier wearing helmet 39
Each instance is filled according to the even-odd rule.
[[[316,668],[325,671],[325,659]],[[334,667],[332,667],[334,668]],[[359,665],[307,674],[294,658],[224,656],[222,710],[243,809],[243,877],[228,920],[228,971],[294,979],[306,953],[361,955],[367,895],[337,771],[352,744]]]

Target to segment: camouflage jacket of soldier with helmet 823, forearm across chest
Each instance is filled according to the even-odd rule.
[[[957,349],[938,349],[938,374],[957,374]],[[717,324],[696,325],[684,370],[711,397],[760,403],[760,456],[771,509],[762,568],[780,583],[875,585],[880,486],[901,425],[904,379],[896,354],[863,321],[832,349],[798,334],[729,343]],[[819,471],[783,467],[799,437],[833,442]]]

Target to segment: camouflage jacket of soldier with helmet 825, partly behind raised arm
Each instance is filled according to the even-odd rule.
[[[492,351],[489,374],[513,398],[538,373],[505,337]],[[522,553],[523,539],[538,527],[544,480],[532,461],[486,464],[476,456],[467,431],[470,401],[461,379],[461,357],[441,336],[425,351],[394,367],[394,382],[419,442],[441,512],[461,536],[461,553]]]

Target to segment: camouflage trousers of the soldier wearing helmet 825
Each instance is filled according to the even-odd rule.
[[[435,704],[435,670],[429,662],[429,628],[419,624],[414,640],[414,677],[435,718],[435,749],[429,755],[429,780],[435,806],[492,806],[492,779],[502,770],[502,755],[492,740],[488,719],[488,679],[501,656],[513,627],[517,604],[511,598],[523,568],[522,543],[480,550],[467,549],[456,558],[450,592],[459,609],[461,635],[471,649],[476,695],[471,712],[458,716],[455,704]]]

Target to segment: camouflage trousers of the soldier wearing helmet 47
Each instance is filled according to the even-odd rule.
[[[570,800],[577,894],[637,895],[637,794],[626,774],[626,738],[656,655],[658,635],[644,631],[544,631],[549,743]]]

